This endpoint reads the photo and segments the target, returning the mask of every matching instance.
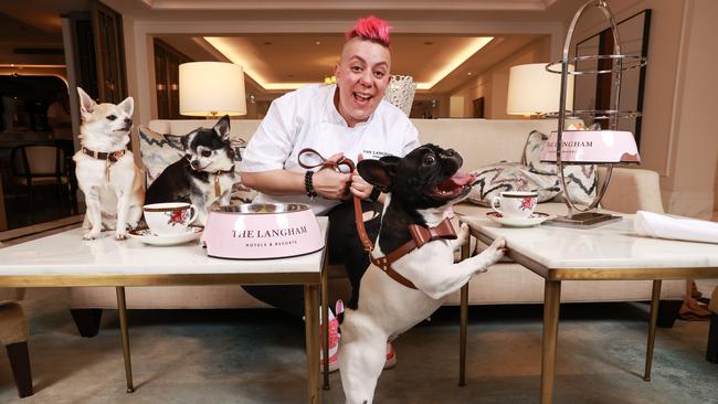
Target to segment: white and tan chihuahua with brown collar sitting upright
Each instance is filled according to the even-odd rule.
[[[93,240],[103,230],[103,216],[117,210],[117,221],[105,227],[115,228],[115,238],[127,237],[127,225],[136,227],[142,215],[145,191],[141,171],[127,150],[133,127],[133,97],[115,104],[96,104],[82,88],[80,108],[82,148],[75,153],[77,184],[85,193],[86,223],[89,232],[83,238]]]

